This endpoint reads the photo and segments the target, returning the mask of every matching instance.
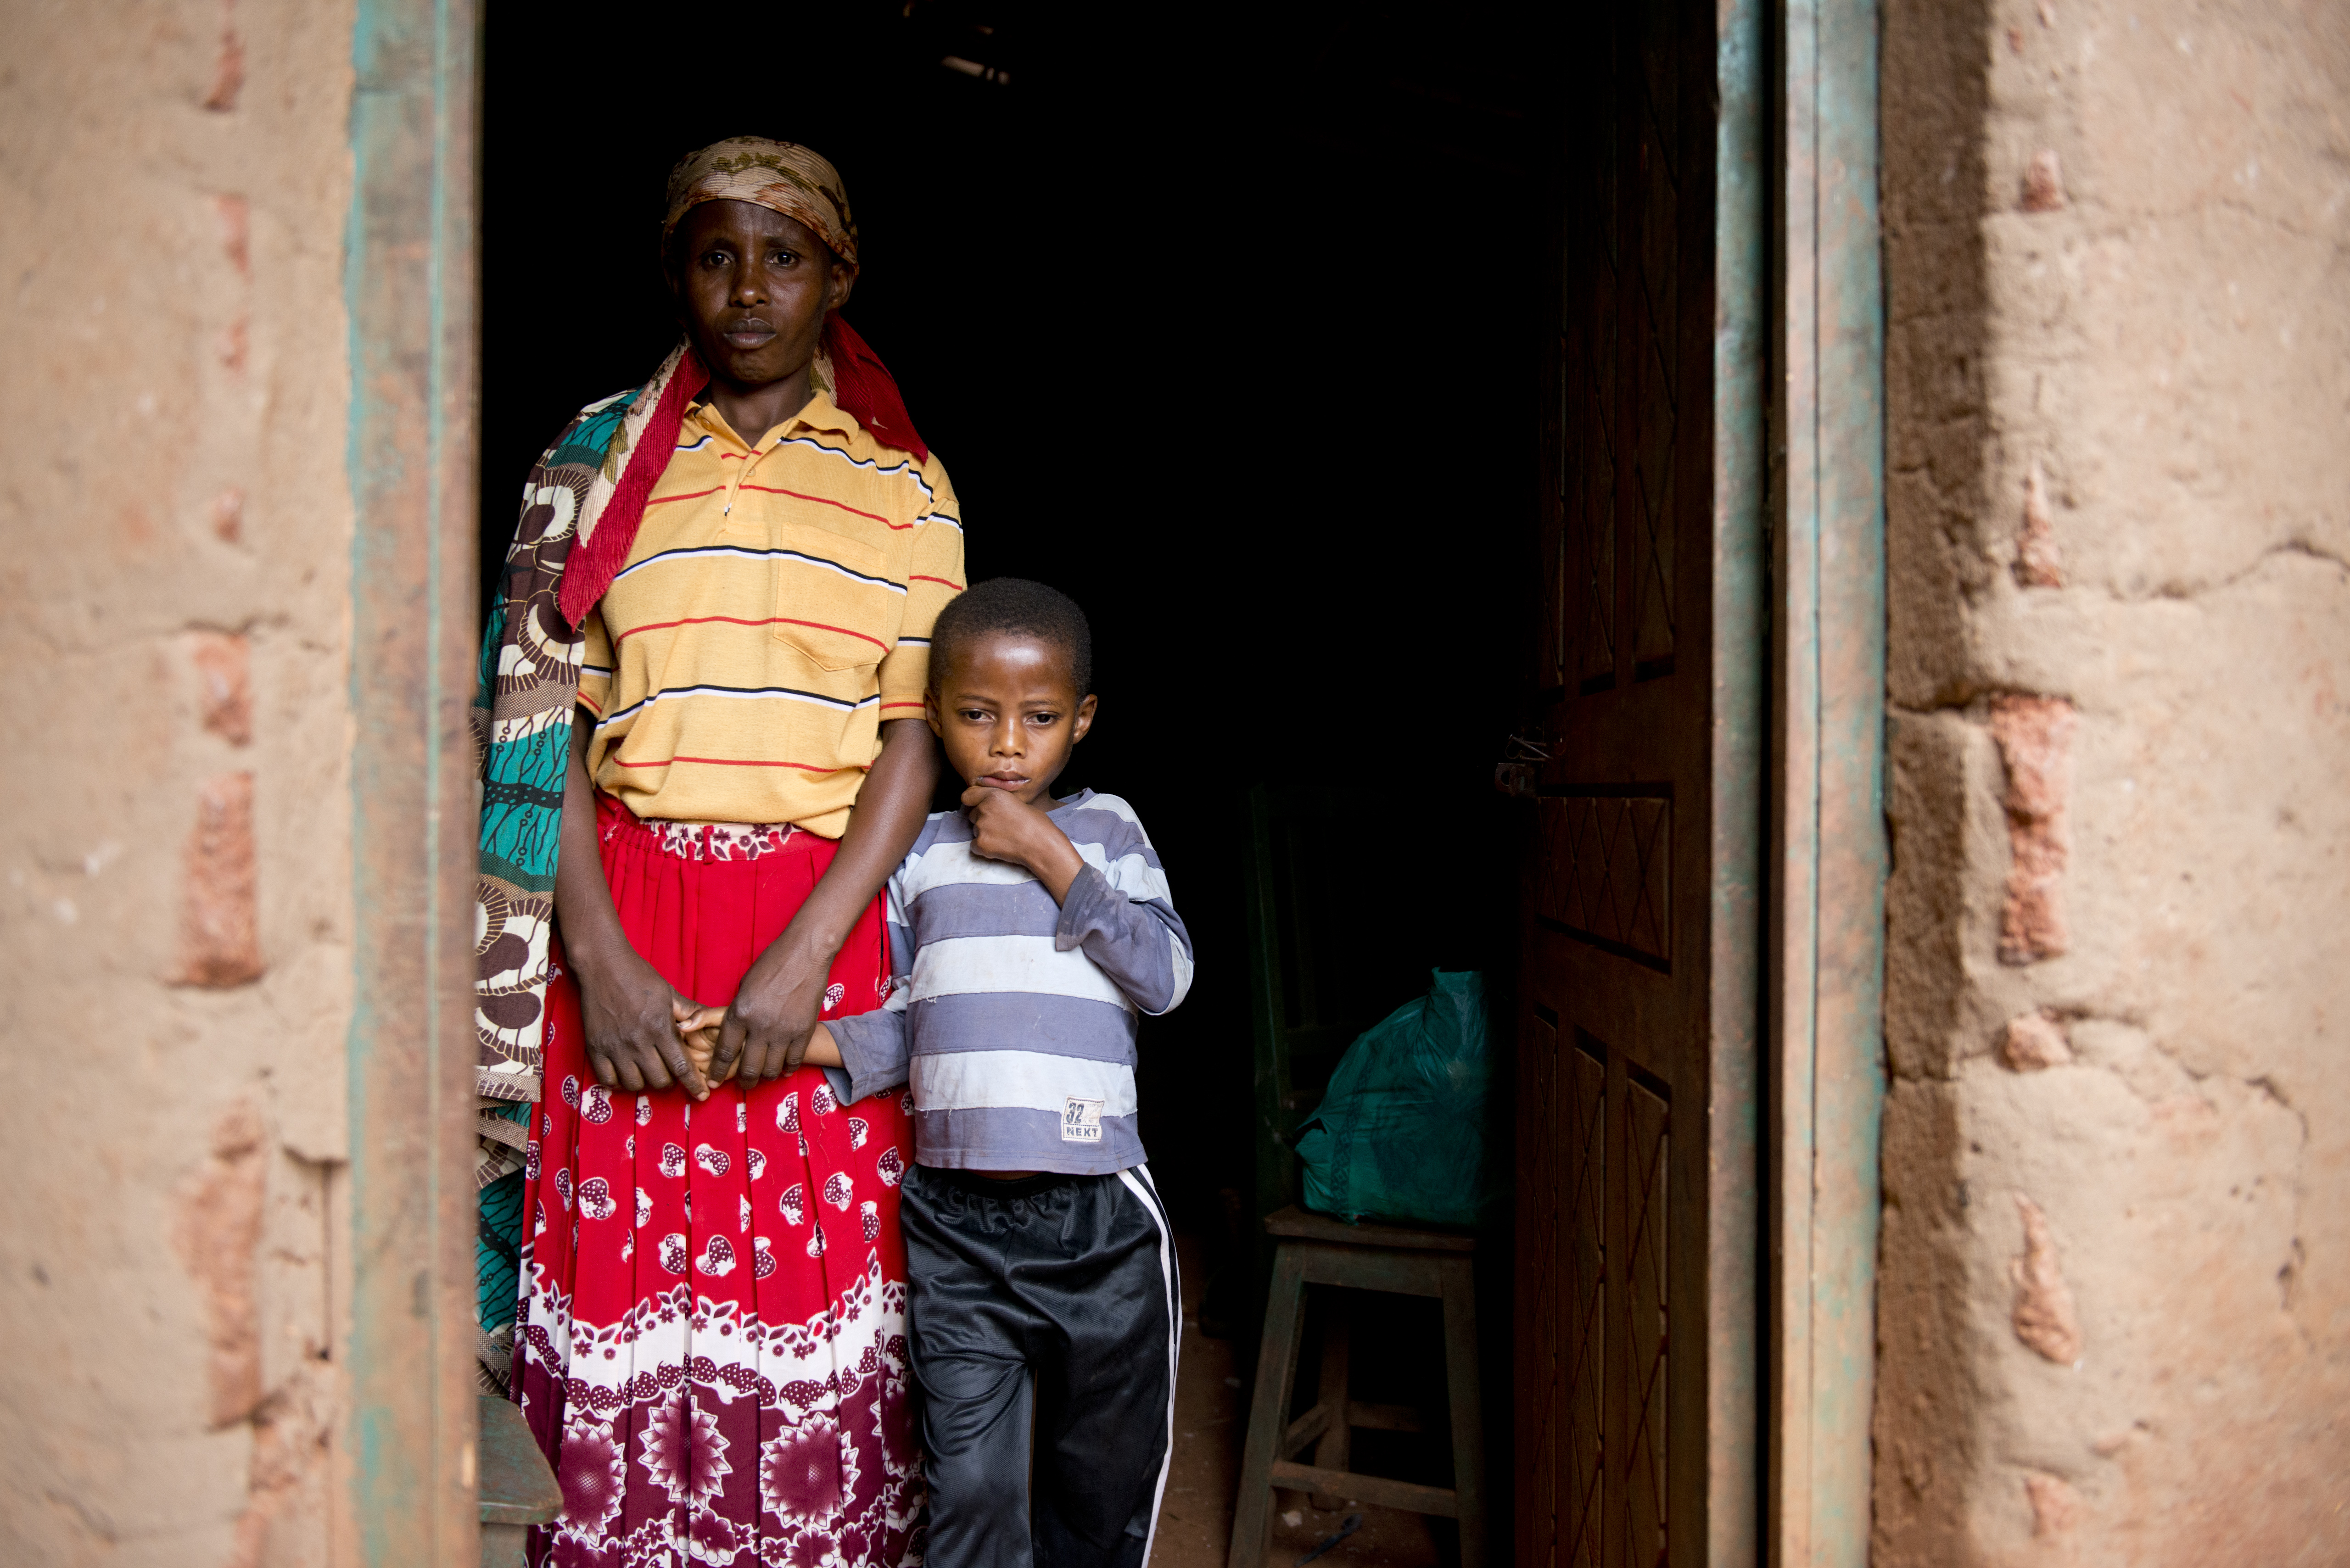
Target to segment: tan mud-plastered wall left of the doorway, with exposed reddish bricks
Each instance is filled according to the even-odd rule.
[[[324,1563],[338,0],[0,5],[0,1561]]]

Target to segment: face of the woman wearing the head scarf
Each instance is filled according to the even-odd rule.
[[[757,202],[703,202],[672,242],[670,289],[710,374],[740,388],[797,376],[815,357],[825,310],[855,268],[815,233]]]

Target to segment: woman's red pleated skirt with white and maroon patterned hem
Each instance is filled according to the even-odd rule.
[[[837,849],[639,823],[616,802],[599,835],[630,943],[707,1006],[733,999]],[[879,1004],[884,943],[877,900],[832,964],[827,1018]],[[815,1067],[700,1105],[606,1091],[559,954],[545,1084],[515,1389],[564,1512],[531,1533],[531,1563],[919,1563],[905,1095],[839,1105]]]

